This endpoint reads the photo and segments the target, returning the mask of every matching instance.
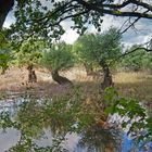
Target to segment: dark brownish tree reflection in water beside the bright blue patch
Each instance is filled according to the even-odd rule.
[[[87,148],[87,152],[118,152],[122,145],[122,132],[93,126],[81,134],[78,147]]]

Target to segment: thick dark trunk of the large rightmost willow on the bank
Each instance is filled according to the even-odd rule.
[[[114,86],[113,80],[112,80],[112,75],[109,68],[109,65],[105,62],[100,62],[100,65],[103,68],[103,83],[101,84],[101,88],[105,89],[106,87],[112,87]]]

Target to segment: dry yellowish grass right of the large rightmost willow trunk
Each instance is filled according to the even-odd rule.
[[[152,75],[148,73],[118,73],[114,76],[114,83],[125,97],[152,101]]]

